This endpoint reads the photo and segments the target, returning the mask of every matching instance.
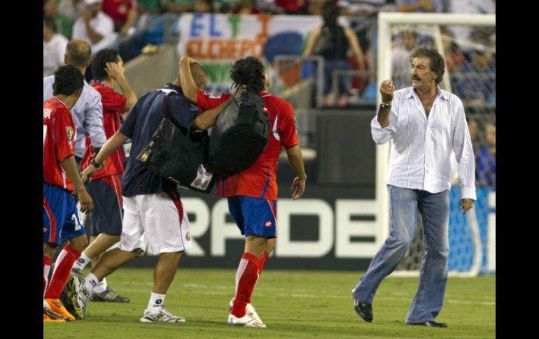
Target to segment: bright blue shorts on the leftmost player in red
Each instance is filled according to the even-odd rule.
[[[59,245],[83,234],[75,199],[65,189],[43,182],[43,243]]]

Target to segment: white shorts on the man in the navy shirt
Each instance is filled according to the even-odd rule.
[[[157,253],[180,252],[191,247],[189,219],[178,192],[123,197],[120,250],[140,248]]]

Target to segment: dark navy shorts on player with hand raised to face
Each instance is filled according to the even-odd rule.
[[[109,236],[122,234],[122,183],[120,174],[92,180],[86,190],[94,201],[90,224],[92,236],[105,233]]]

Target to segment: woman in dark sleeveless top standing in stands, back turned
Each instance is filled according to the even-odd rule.
[[[358,42],[358,37],[350,27],[337,23],[339,8],[335,3],[327,2],[323,6],[323,24],[311,31],[303,55],[321,55],[324,58],[324,104],[332,106],[335,97],[331,93],[332,73],[337,70],[350,70],[348,50],[351,48],[359,69],[365,67],[365,57]],[[348,99],[349,77],[339,76],[339,106],[346,106]]]

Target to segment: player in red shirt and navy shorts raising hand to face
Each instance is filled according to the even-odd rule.
[[[92,62],[94,80],[90,84],[101,94],[103,105],[103,125],[107,138],[111,138],[120,129],[120,115],[130,110],[137,102],[137,96],[127,82],[124,75],[123,60],[118,51],[106,48],[100,50]],[[123,94],[114,91],[118,84]],[[82,168],[90,165],[95,156],[94,147],[90,144],[90,138],[86,137],[86,152],[82,162]],[[111,154],[100,169],[92,176],[92,181],[86,184],[86,188],[94,200],[92,212],[92,235],[90,245],[80,254],[80,258],[73,264],[71,272],[74,275],[82,275],[85,266],[94,259],[95,266],[101,254],[120,240],[122,233],[122,187],[123,154],[120,149]],[[128,303],[129,298],[120,296],[109,288],[106,279],[103,279],[92,294],[92,301],[115,301]]]

